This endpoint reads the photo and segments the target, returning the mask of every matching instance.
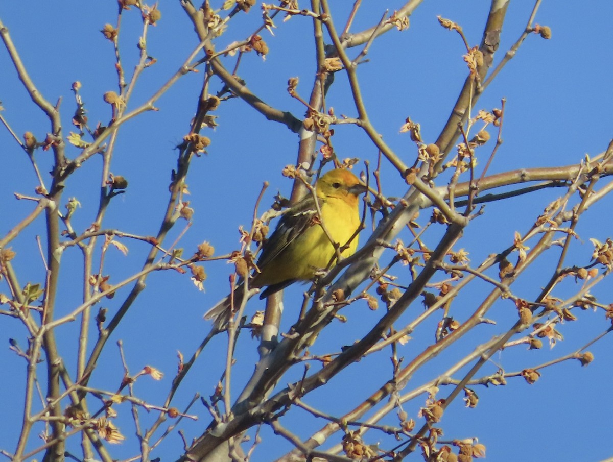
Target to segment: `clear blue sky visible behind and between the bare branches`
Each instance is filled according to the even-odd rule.
[[[341,29],[352,2],[333,3],[333,19],[337,29]],[[384,3],[388,2],[364,0],[352,30],[360,31],[374,25],[387,7]],[[401,5],[400,1],[389,2],[390,10]],[[301,7],[304,6],[301,2]],[[531,6],[531,2],[511,2],[496,62],[524,30]],[[130,102],[132,107],[156,91],[197,45],[192,25],[179,2],[162,0],[159,8],[162,19],[158,26],[148,31],[148,52],[158,61],[143,72]],[[435,140],[466,76],[462,40],[455,32],[441,28],[436,15],[451,18],[462,25],[469,44],[473,46],[481,41],[487,9],[487,2],[425,1],[411,16],[411,27],[407,31],[390,31],[376,40],[368,53],[369,62],[359,66],[360,85],[371,121],[405,162],[412,163],[416,155],[408,135],[398,133],[405,118],[410,116],[421,124],[424,140]],[[613,6],[608,2],[588,2],[581,6],[571,2],[543,2],[535,22],[550,26],[552,39],[529,36],[517,56],[504,67],[476,106],[476,109],[500,107],[501,98],[506,99],[504,143],[490,167],[490,173],[576,164],[585,154],[595,156],[606,149],[611,140],[613,102],[610,81],[613,62],[610,47],[613,32],[609,27],[611,13]],[[105,23],[115,23],[116,2],[91,2],[86,6],[76,1],[53,4],[3,2],[0,4],[0,20],[9,28],[40,92],[52,102],[58,97],[62,98],[65,135],[75,131],[70,124],[74,113],[74,97],[70,88],[76,80],[82,83],[81,94],[91,125],[94,126],[98,120],[103,123],[109,120],[110,107],[102,100],[102,94],[116,90],[116,72],[112,45],[99,30]],[[218,48],[244,39],[259,21],[257,7],[248,15],[238,15],[230,21],[229,31],[219,38]],[[270,48],[265,61],[249,53],[243,57],[239,75],[268,104],[302,117],[302,105],[289,97],[285,88],[289,77],[300,76],[299,93],[308,97],[310,92],[314,69],[311,20],[294,17],[286,23],[280,20],[275,22],[278,28],[274,29],[274,37],[262,32]],[[124,13],[120,45],[128,74],[138,57],[136,44],[141,28],[137,10]],[[358,52],[351,50],[349,53],[355,56]],[[229,61],[226,65],[231,67],[233,63]],[[201,82],[202,72],[186,75],[159,99],[156,103],[158,112],[145,113],[123,127],[111,170],[115,175],[126,176],[129,188],[126,194],[113,199],[105,228],[140,235],[157,233],[167,202],[170,171],[176,166],[175,148],[189,130]],[[211,80],[211,93],[219,88],[219,81]],[[44,139],[48,124],[17,80],[4,48],[0,50],[0,100],[4,107],[2,115],[18,135],[32,131],[39,140]],[[342,72],[336,76],[327,104],[335,108],[337,115],[356,115]],[[238,226],[249,226],[263,181],[268,181],[270,187],[264,195],[260,212],[272,204],[277,191],[287,196],[291,190],[291,181],[281,176],[280,172],[285,165],[295,161],[297,135],[280,124],[267,123],[261,115],[238,100],[222,104],[214,114],[218,116],[218,127],[214,132],[204,133],[212,141],[209,154],[192,161],[188,176],[191,194],[187,199],[191,201],[195,214],[191,227],[178,244],[185,249],[185,255],[191,255],[197,244],[204,240],[210,241],[218,254],[237,249]],[[362,161],[370,161],[371,165],[376,164],[376,148],[359,129],[337,126],[335,132],[335,149],[341,158],[359,157]],[[495,137],[495,132],[491,133],[492,138]],[[491,148],[485,149],[487,154],[481,154],[482,159],[489,155]],[[78,150],[69,148],[67,153],[75,157]],[[4,128],[0,129],[0,156],[0,237],[3,237],[32,209],[31,202],[13,199],[13,192],[34,195],[36,178],[28,158]],[[49,177],[45,175],[51,168],[50,153],[39,150],[36,159],[48,181]],[[481,161],[483,164],[484,160]],[[73,218],[75,229],[86,229],[94,219],[101,183],[100,167],[100,159],[93,157],[67,183],[64,201],[76,197],[82,203]],[[389,164],[383,165],[382,177],[387,195],[400,196],[405,193],[406,184],[398,179]],[[471,222],[465,231],[459,248],[466,248],[473,265],[478,265],[487,255],[508,247],[516,230],[526,232],[530,229],[543,208],[560,194],[560,191],[550,189],[531,197],[487,205],[485,214]],[[569,262],[586,265],[592,253],[588,238],[604,241],[611,235],[610,210],[611,200],[607,199],[584,215],[577,227],[581,240],[573,244]],[[422,212],[421,222],[425,223],[428,216],[429,211]],[[166,245],[179,237],[185,224],[178,222]],[[36,235],[44,235],[42,221],[32,225],[11,244],[17,251],[14,265],[22,284],[44,281]],[[436,232],[428,243],[434,245],[435,237]],[[409,240],[406,236],[404,238]],[[148,246],[143,243],[127,240],[122,240],[122,243],[129,248],[128,256],[114,252],[105,262],[104,274],[111,275],[110,280],[115,283],[140,270],[148,252]],[[553,257],[558,255],[553,254]],[[387,262],[391,255],[385,254],[382,262]],[[67,314],[81,303],[81,265],[82,257],[77,250],[64,254],[61,303],[58,305],[61,314]],[[161,382],[141,377],[135,388],[137,395],[150,403],[159,403],[164,399],[177,367],[177,350],[186,356],[191,354],[208,331],[202,314],[228,292],[227,278],[232,267],[223,261],[207,263],[205,267],[208,279],[204,293],[194,288],[187,275],[162,272],[148,278],[147,290],[140,295],[121,327],[115,331],[112,341],[107,344],[107,350],[94,373],[93,385],[105,390],[114,390],[118,386],[123,370],[114,343],[121,339],[132,373],[144,365],[156,366],[166,373]],[[555,260],[544,258],[538,268],[532,268],[522,275],[514,286],[514,292],[528,300],[535,297],[554,267]],[[397,268],[397,274],[401,280],[408,281],[409,274],[405,268]],[[599,297],[601,303],[611,302],[609,287],[610,282],[605,281],[600,289],[595,290],[594,295]],[[292,313],[302,301],[302,290],[303,287],[292,287],[286,291],[286,316],[282,328],[287,329],[294,322]],[[481,300],[479,297],[483,297],[488,290],[486,284],[474,284],[457,301],[455,309],[458,311],[454,316],[461,320],[463,314],[472,312],[474,305]],[[558,297],[568,297],[574,290],[577,290],[577,286],[566,284],[560,288]],[[0,282],[0,293],[7,291],[5,282]],[[113,300],[105,300],[101,306],[113,313],[127,293],[128,289],[123,289]],[[252,300],[248,309],[253,312],[254,309],[262,309],[262,306],[261,301]],[[346,313],[348,322],[330,326],[311,352],[325,354],[351,344],[365,335],[381,317],[381,310],[371,312],[363,302],[352,305]],[[421,310],[419,304],[409,308],[399,325],[403,320],[408,322],[413,319],[414,312]],[[498,366],[506,371],[517,371],[544,363],[574,351],[608,326],[602,311],[582,311],[578,316],[579,322],[567,322],[560,327],[565,341],[558,343],[554,349],[549,350],[546,346],[543,350],[531,352],[526,352],[525,347],[504,350],[492,358],[492,365],[487,369],[489,372],[484,369],[484,374],[492,373]],[[420,370],[405,391],[412,388],[411,385],[417,386],[432,379],[443,368],[473,350],[476,344],[511,327],[516,320],[511,301],[501,300],[493,309],[492,317],[498,322],[496,326],[476,328],[454,346],[452,352],[446,352]],[[398,354],[408,362],[412,355],[432,343],[435,324],[434,319],[428,321],[412,335],[413,339]],[[92,335],[95,335],[95,331],[93,326]],[[26,331],[17,320],[2,316],[0,332],[0,342],[4,344],[0,350],[0,369],[4,371],[5,384],[2,387],[5,391],[0,396],[0,449],[11,452],[15,447],[23,409],[20,390],[23,389],[25,361],[8,349],[8,339],[17,339],[20,346],[25,348]],[[77,332],[76,322],[58,329],[61,351],[67,367],[72,370]],[[178,395],[177,407],[182,409],[195,392],[203,396],[213,392],[225,360],[225,345],[225,338],[216,339],[212,349],[196,363]],[[235,355],[238,363],[234,395],[253,370],[257,358],[256,347],[256,341],[248,339],[248,335],[242,336]],[[516,378],[510,379],[506,387],[475,388],[481,398],[476,409],[464,409],[461,400],[455,401],[447,409],[443,420],[444,439],[479,437],[479,441],[487,447],[488,460],[503,462],[546,458],[561,462],[597,462],[610,457],[612,451],[607,445],[610,427],[606,424],[605,416],[613,409],[604,396],[608,395],[611,379],[606,360],[611,347],[611,339],[604,338],[590,347],[596,359],[587,368],[580,368],[577,362],[556,365],[545,369],[543,377],[534,385]],[[318,366],[313,364],[311,367]],[[389,351],[365,358],[335,377],[329,387],[310,395],[309,402],[329,414],[342,415],[351,409],[352,402],[364,400],[381,386],[389,378],[390,367]],[[279,387],[299,379],[301,374],[302,369],[291,369]],[[449,391],[441,390],[440,396]],[[354,400],[341,400],[343,396],[351,396]],[[416,420],[417,411],[424,405],[424,400],[425,396],[417,398],[405,408]],[[121,447],[112,447],[116,458],[127,458],[137,453],[129,408],[126,404],[123,406],[119,408],[117,422],[129,441]],[[140,411],[145,421],[152,422],[156,417],[154,414],[152,412],[147,416]],[[199,404],[191,409],[190,414],[199,414],[200,420],[197,423],[183,421],[188,440],[199,436],[202,428],[208,424],[208,414]],[[295,416],[288,415],[286,419],[281,422],[303,438],[324,424],[321,419],[315,420],[300,412]],[[392,414],[383,423],[395,425],[397,419]],[[147,423],[143,426],[147,426]],[[579,432],[588,434],[590,443],[585,444],[579,437],[570,436]],[[382,441],[382,447],[390,445],[389,441],[382,440],[374,432],[367,435],[370,444]],[[254,461],[274,460],[291,449],[284,441],[274,444],[276,437],[269,428],[263,428],[261,436],[264,442],[262,449],[254,452]],[[31,447],[39,443],[33,437]],[[175,434],[153,456],[172,460],[179,455],[181,446],[180,438]],[[76,441],[70,450],[78,454]]]

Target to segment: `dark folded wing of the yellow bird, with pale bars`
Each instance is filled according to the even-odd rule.
[[[319,199],[320,207],[321,202],[322,200]],[[280,256],[295,238],[313,226],[313,216],[317,213],[314,205],[313,196],[308,195],[286,211],[276,225],[275,232],[262,249],[262,254],[257,260],[259,268],[264,268],[265,265]]]

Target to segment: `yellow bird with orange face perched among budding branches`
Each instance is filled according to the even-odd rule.
[[[314,186],[321,215],[311,192],[286,210],[275,231],[262,244],[256,263],[259,271],[250,276],[249,290],[267,287],[260,295],[264,298],[294,282],[312,281],[318,271],[336,263],[333,258],[335,246],[330,238],[344,247],[341,256],[346,258],[354,254],[361,224],[359,195],[366,190],[366,186],[349,170],[333,169],[324,173]],[[218,330],[225,330],[232,315],[230,297],[234,297],[234,306],[238,307],[243,293],[241,280],[234,294],[219,301],[205,313],[204,318],[213,320]]]

